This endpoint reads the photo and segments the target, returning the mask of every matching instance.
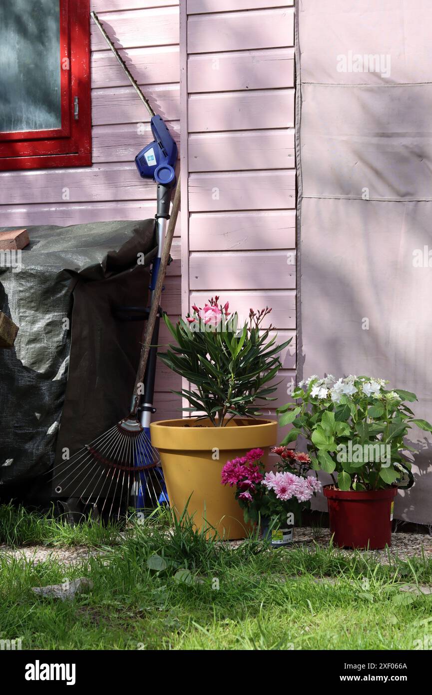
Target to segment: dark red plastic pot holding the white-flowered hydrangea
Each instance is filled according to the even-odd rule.
[[[397,488],[365,492],[324,486],[330,532],[339,548],[379,550],[392,544],[392,504]]]

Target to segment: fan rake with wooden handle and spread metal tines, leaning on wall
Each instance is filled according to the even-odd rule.
[[[167,502],[160,457],[150,440],[153,393],[146,392],[145,384],[149,383],[149,369],[154,371],[155,368],[155,336],[158,334],[156,323],[160,316],[160,297],[179,206],[178,180],[156,286],[151,293],[151,307],[142,341],[131,411],[109,430],[83,446],[69,459],[66,466],[64,463],[58,464],[53,471],[56,493],[67,488],[70,497],[77,497],[84,506],[93,505],[98,511],[97,503],[103,498],[99,514],[103,516],[103,512],[107,510],[109,518],[119,518],[122,509],[127,509],[130,505],[135,509],[144,509]],[[152,359],[149,361],[150,355]],[[150,383],[152,380],[154,381],[154,374],[151,375]]]

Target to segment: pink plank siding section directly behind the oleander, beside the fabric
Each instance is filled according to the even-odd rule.
[[[182,309],[215,293],[240,320],[272,307],[267,326],[292,338],[277,400],[258,404],[272,418],[296,368],[293,4],[180,4]]]

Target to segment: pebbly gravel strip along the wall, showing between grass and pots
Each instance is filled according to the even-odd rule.
[[[299,546],[310,546],[313,550],[315,543],[320,548],[325,548],[329,545],[331,534],[329,529],[316,529],[304,526],[294,530],[294,541],[292,548]],[[242,541],[229,541],[234,548],[240,546]],[[401,533],[397,532],[392,535],[392,546],[389,549],[390,556],[406,559],[407,557],[424,557],[432,558],[432,536],[429,534],[417,533]],[[350,553],[350,550],[341,550],[342,553]],[[49,548],[47,546],[25,546],[22,548],[9,548],[8,546],[0,546],[0,556],[6,557],[24,557],[29,562],[38,563],[44,562],[47,559],[54,559],[70,566],[87,559],[90,555],[97,554],[98,551],[94,548],[86,548],[85,546],[75,547],[56,547]],[[378,562],[388,563],[388,550],[372,550],[371,554]]]

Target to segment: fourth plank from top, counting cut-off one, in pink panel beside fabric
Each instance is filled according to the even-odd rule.
[[[257,90],[191,95],[190,133],[292,128],[294,90]]]

